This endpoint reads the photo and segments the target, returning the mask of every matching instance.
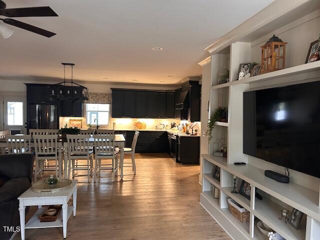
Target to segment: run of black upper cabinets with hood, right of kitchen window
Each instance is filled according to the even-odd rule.
[[[112,117],[200,120],[201,85],[198,81],[189,80],[183,83],[181,88],[168,91],[120,88],[111,90]],[[183,104],[177,104],[180,102]]]

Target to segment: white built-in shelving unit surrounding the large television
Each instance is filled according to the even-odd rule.
[[[256,227],[262,220],[286,240],[320,239],[320,179],[304,173],[290,171],[290,183],[279,183],[264,176],[264,169],[282,172],[280,166],[265,163],[243,153],[243,92],[320,80],[320,61],[304,64],[310,42],[318,38],[320,31],[320,0],[274,0],[206,50],[210,59],[200,65],[210,64],[208,115],[218,106],[228,107],[227,122],[215,122],[208,153],[202,155],[202,192],[200,204],[236,240],[266,237]],[[288,42],[286,68],[237,80],[239,65],[260,62],[260,46],[272,34]],[[202,66],[203,66],[202,65]],[[230,70],[229,82],[217,84],[218,73],[226,67]],[[202,90],[203,91],[203,90]],[[223,137],[227,142],[227,157],[213,156],[215,139]],[[234,165],[242,161],[245,165]],[[212,177],[214,167],[219,166],[220,181]],[[233,175],[237,177],[236,189],[241,180],[251,184],[251,197],[233,194]],[[219,199],[212,196],[212,187],[219,189]],[[254,197],[259,192],[263,199]],[[250,212],[250,221],[241,223],[229,211],[227,198],[232,198]],[[299,229],[278,220],[280,209],[296,208],[304,213]]]

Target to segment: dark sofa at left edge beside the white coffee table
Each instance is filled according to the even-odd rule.
[[[0,155],[0,239],[9,239],[13,231],[3,226],[20,225],[17,197],[31,186],[33,154]],[[25,209],[27,212],[27,209]]]

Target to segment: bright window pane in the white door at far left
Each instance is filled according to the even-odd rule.
[[[10,126],[23,125],[23,102],[21,101],[7,102],[7,124]]]

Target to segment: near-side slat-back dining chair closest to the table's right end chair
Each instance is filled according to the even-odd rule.
[[[110,130],[109,130],[110,131]],[[93,179],[95,181],[96,173],[100,176],[101,169],[110,169],[102,168],[101,160],[102,159],[111,159],[111,169],[113,172],[118,167],[119,160],[119,149],[114,146],[114,131],[111,130],[110,134],[94,134],[94,159],[95,159],[95,168],[93,171]]]

